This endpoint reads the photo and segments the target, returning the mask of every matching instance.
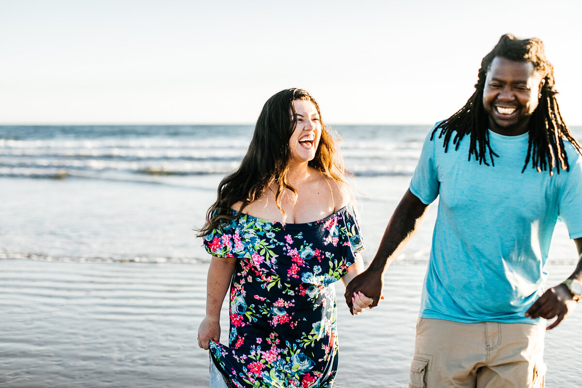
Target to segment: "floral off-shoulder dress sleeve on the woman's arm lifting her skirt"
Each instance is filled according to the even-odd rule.
[[[216,257],[242,258],[245,252],[236,220],[222,223],[213,229],[204,236],[203,244],[206,251]]]

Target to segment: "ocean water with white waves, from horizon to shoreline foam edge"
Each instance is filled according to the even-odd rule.
[[[333,126],[371,259],[430,125]],[[251,125],[0,126],[0,257],[198,262],[194,237]],[[582,128],[574,128],[582,138]],[[399,259],[425,261],[435,208]],[[553,259],[572,261],[558,225]],[[369,255],[369,256],[368,256]]]

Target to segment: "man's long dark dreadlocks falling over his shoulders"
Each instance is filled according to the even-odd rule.
[[[545,80],[541,88],[541,97],[537,108],[531,115],[528,133],[529,142],[526,160],[521,172],[526,170],[528,163],[531,167],[541,172],[548,170],[552,175],[553,169],[560,173],[560,169],[569,170],[568,156],[564,148],[564,140],[569,141],[582,154],[582,148],[576,142],[572,133],[564,123],[560,108],[556,100],[558,91],[554,88],[553,66],[545,58],[544,43],[538,38],[519,40],[513,35],[506,34],[501,37],[494,49],[485,55],[481,61],[481,69],[475,92],[467,103],[450,118],[439,123],[432,132],[431,140],[435,133],[440,130],[438,137],[443,138],[443,147],[448,151],[449,142],[453,134],[453,144],[455,150],[463,137],[469,134],[469,158],[475,157],[475,161],[485,165],[495,165],[494,157],[499,156],[491,149],[488,134],[488,114],[483,106],[483,90],[485,87],[485,77],[491,66],[493,59],[499,56],[509,60],[521,62],[531,62],[536,72],[540,73]]]

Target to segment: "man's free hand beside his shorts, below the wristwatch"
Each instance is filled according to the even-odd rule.
[[[526,311],[526,316],[530,318],[552,319],[555,321],[546,330],[551,330],[558,326],[576,308],[576,301],[573,300],[572,293],[565,284],[558,284],[545,291],[545,293]]]

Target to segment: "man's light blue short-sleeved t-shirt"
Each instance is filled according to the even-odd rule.
[[[528,164],[521,173],[527,133],[489,131],[495,166],[467,160],[468,135],[445,153],[439,131],[432,141],[431,133],[410,182],[424,204],[440,196],[420,316],[535,323],[524,314],[542,294],[556,220],[566,223],[570,238],[582,237],[580,154],[565,141],[569,172],[550,176]]]

